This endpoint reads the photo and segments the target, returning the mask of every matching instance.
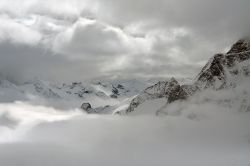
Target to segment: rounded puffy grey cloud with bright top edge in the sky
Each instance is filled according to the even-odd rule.
[[[55,50],[71,56],[113,56],[126,53],[117,31],[96,21],[80,19],[55,40]],[[90,57],[91,58],[91,57]]]

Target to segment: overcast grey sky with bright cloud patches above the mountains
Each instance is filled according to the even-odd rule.
[[[249,36],[249,11],[249,0],[1,0],[0,73],[194,77]]]

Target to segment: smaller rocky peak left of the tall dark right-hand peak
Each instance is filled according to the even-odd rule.
[[[134,111],[136,107],[147,100],[166,98],[166,102],[185,99],[188,94],[182,89],[179,83],[172,78],[170,81],[160,81],[157,84],[146,88],[141,94],[136,96],[130,103],[126,113]]]

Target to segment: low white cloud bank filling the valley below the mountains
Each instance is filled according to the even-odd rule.
[[[0,118],[0,125],[1,120],[5,122],[0,126],[3,165],[228,166],[250,162],[249,113],[217,104],[191,102],[187,112],[170,112],[165,118],[87,116],[25,103],[0,104],[0,111],[9,113],[9,124],[12,119],[19,121],[10,129]]]

